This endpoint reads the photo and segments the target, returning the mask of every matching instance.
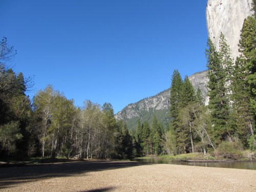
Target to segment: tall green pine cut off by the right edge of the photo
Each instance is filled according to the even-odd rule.
[[[239,52],[231,83],[234,124],[240,139],[245,145],[251,145],[256,120],[256,2],[253,1],[254,15],[244,20],[239,41]],[[250,139],[249,139],[250,138]],[[248,140],[249,143],[246,141]],[[252,146],[253,148],[253,146]]]

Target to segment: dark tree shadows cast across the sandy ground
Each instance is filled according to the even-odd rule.
[[[50,165],[27,164],[22,167],[0,167],[0,189],[12,187],[18,183],[32,182],[39,179],[68,177],[89,172],[99,172],[106,169],[117,169],[150,163],[133,161],[78,161]],[[111,189],[95,189],[93,191],[108,191]],[[89,191],[88,191],[89,192]]]

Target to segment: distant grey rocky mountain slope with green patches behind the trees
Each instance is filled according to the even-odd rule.
[[[201,89],[207,104],[206,83],[208,79],[206,75],[207,71],[195,73],[189,77],[189,80],[195,90],[198,88]],[[136,129],[138,119],[140,119],[141,122],[147,121],[151,123],[154,115],[164,126],[167,126],[170,121],[169,97],[170,89],[164,90],[155,96],[144,98],[136,103],[131,103],[125,106],[125,108],[118,112],[115,117],[117,120],[125,120],[129,129]]]

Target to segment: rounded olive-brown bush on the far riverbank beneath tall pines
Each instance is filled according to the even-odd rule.
[[[222,141],[214,154],[224,159],[239,159],[243,157],[242,150],[240,142]]]

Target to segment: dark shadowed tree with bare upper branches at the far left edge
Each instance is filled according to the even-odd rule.
[[[0,42],[0,50],[0,157],[8,157],[14,152],[22,157],[27,154],[31,139],[28,131],[31,105],[25,95],[31,78],[25,79],[22,73],[16,74],[7,67],[6,62],[14,58],[16,51],[5,37]]]

